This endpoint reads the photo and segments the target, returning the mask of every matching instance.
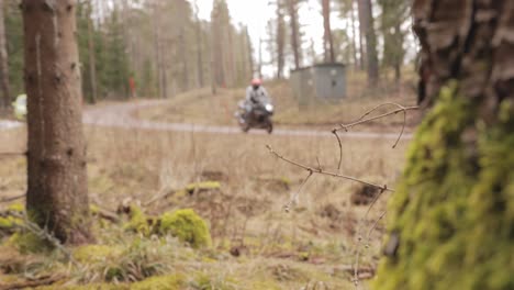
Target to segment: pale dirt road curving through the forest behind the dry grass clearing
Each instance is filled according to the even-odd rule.
[[[104,126],[104,127],[123,127],[123,129],[142,129],[152,131],[172,131],[172,132],[198,132],[211,134],[243,134],[237,126],[220,126],[220,125],[198,125],[190,123],[165,123],[141,120],[137,118],[137,112],[141,109],[165,104],[166,100],[150,100],[130,103],[113,103],[103,104],[94,108],[87,108],[83,113],[83,122],[88,125]],[[0,120],[0,130],[9,130],[22,126],[23,123],[15,121]],[[249,134],[267,134],[265,131],[255,130]],[[333,137],[333,134],[327,129],[276,129],[273,135],[278,136],[327,136]],[[342,138],[398,138],[398,134],[380,133],[380,132],[347,132],[342,134]],[[410,138],[411,135],[404,135],[404,138]]]

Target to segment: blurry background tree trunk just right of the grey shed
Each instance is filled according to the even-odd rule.
[[[377,35],[373,27],[373,13],[371,0],[358,0],[360,33],[366,40],[366,68],[368,71],[368,82],[376,87],[379,80],[379,66],[377,53]],[[361,35],[361,36],[362,36]]]

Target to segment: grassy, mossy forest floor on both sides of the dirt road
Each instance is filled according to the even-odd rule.
[[[280,83],[278,87],[286,89]],[[220,91],[220,100],[215,101],[194,97],[204,91],[178,96],[171,103],[190,103],[183,107],[188,108],[182,111],[186,114],[175,113],[179,116],[166,111],[172,105],[133,113],[155,122],[228,125],[233,122],[228,108],[234,103],[227,101],[230,112],[225,116],[204,113],[212,105],[209,102],[236,100],[241,92]],[[394,100],[400,102],[401,98]],[[358,103],[342,105],[342,110],[350,110],[345,111],[347,119],[334,122],[350,120],[362,112],[360,109],[369,108]],[[373,101],[369,99],[368,103]],[[159,110],[168,113],[163,115]],[[277,118],[280,120],[280,114]],[[290,120],[291,126],[305,125],[299,124],[295,116]],[[326,123],[332,125],[333,121]],[[325,130],[324,125],[320,129]],[[390,132],[401,130],[392,130],[395,123],[389,126]],[[74,257],[70,261],[66,257],[69,253],[34,253],[40,247],[20,246],[3,232],[0,289],[30,282],[53,283],[48,289],[354,289],[357,253],[359,288],[368,287],[384,232],[380,216],[391,193],[382,194],[370,209],[377,191],[343,179],[314,176],[301,190],[295,207],[286,212],[284,205],[308,172],[277,159],[266,147],[270,145],[300,163],[337,171],[339,147],[335,138],[91,124],[85,132],[98,245],[69,248]],[[0,131],[0,153],[24,152],[25,134],[24,127]],[[391,137],[344,138],[340,172],[392,188],[409,141],[403,140],[395,149],[391,148],[393,143]],[[0,199],[23,194],[25,158],[0,155]],[[15,209],[16,202],[1,203],[0,212],[9,207]],[[115,213],[122,203],[141,208],[147,216],[193,209],[208,222],[212,246],[193,249],[171,236],[131,231],[128,219]],[[102,219],[104,213],[120,221]]]

